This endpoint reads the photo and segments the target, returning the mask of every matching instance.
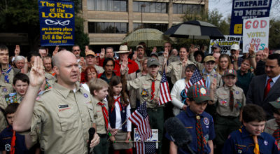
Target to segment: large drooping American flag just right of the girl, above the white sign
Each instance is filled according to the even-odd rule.
[[[148,121],[146,102],[141,104],[141,106],[139,106],[128,119],[137,126],[141,141],[146,141],[146,139],[152,136],[152,130]]]

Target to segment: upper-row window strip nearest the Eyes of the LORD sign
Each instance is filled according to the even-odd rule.
[[[127,11],[127,0],[87,0],[87,10]]]

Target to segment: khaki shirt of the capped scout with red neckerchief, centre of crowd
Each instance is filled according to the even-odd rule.
[[[160,80],[162,76],[158,73],[157,77],[153,79],[150,74],[147,76],[141,76],[134,80],[127,80],[127,89],[130,90],[132,87],[137,90],[137,93],[140,97],[140,104],[147,102],[147,108],[156,108],[158,107],[158,103],[155,100],[151,100],[151,92],[152,92],[152,82],[155,80],[155,97],[160,97]]]

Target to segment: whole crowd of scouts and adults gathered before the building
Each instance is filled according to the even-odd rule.
[[[128,118],[146,102],[158,130],[151,153],[280,153],[280,52],[255,52],[253,44],[240,51],[237,44],[227,55],[218,44],[208,53],[167,42],[162,55],[157,48],[148,55],[141,42],[134,52],[86,46],[81,57],[73,45],[24,57],[19,45],[14,52],[0,45],[0,151],[136,153]],[[163,73],[172,101],[160,105]],[[204,83],[193,83],[199,76]],[[190,150],[165,131],[174,116],[192,136]]]

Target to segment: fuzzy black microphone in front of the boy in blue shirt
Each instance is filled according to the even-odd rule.
[[[190,132],[184,127],[179,118],[172,117],[165,121],[165,129],[170,137],[174,140],[174,144],[179,148],[183,148],[184,151],[189,151],[195,154],[190,148],[189,144],[192,142],[192,136]]]

